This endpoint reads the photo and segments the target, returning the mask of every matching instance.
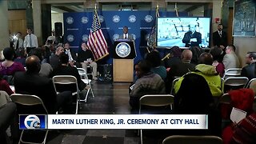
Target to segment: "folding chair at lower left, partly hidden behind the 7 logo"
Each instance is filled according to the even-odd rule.
[[[30,95],[30,94],[11,94],[10,95],[10,99],[13,102],[15,102],[15,103],[17,103],[19,105],[25,106],[25,107],[41,105],[42,109],[43,109],[43,113],[44,114],[48,114],[48,111],[46,110],[46,106],[43,104],[42,99],[39,98],[36,95]],[[27,114],[27,113],[30,113],[30,112],[26,113],[26,111],[23,111],[22,113],[23,114]],[[40,113],[42,114],[42,112],[40,112]],[[42,130],[40,130],[40,131],[42,131]],[[44,135],[43,141],[40,142],[40,143],[46,143],[46,138],[47,138],[48,131],[49,130],[46,130],[46,134]],[[25,130],[22,130],[22,134],[21,134],[21,136],[19,138],[19,143],[21,143],[21,142],[22,143],[35,143],[35,142],[25,142],[23,140],[24,132],[25,132]]]

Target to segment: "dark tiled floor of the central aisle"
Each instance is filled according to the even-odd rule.
[[[92,82],[87,102],[81,102],[78,114],[130,114],[129,83]],[[138,144],[137,130],[59,130],[50,131],[49,144]]]

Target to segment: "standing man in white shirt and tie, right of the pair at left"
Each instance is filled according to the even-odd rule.
[[[26,37],[24,39],[24,48],[26,49],[26,53],[29,54],[31,49],[38,47],[38,38],[36,35],[32,34],[32,30],[30,28],[26,29]]]

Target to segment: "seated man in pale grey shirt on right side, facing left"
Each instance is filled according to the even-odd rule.
[[[234,45],[229,45],[226,47],[226,54],[224,55],[222,61],[225,66],[225,70],[240,67],[240,62],[237,54],[235,54],[235,49],[236,48]]]

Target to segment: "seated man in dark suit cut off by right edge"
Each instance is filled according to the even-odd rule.
[[[242,68],[241,76],[247,77],[250,79],[256,78],[256,52],[248,52],[246,54],[246,64],[247,66],[244,66]]]

